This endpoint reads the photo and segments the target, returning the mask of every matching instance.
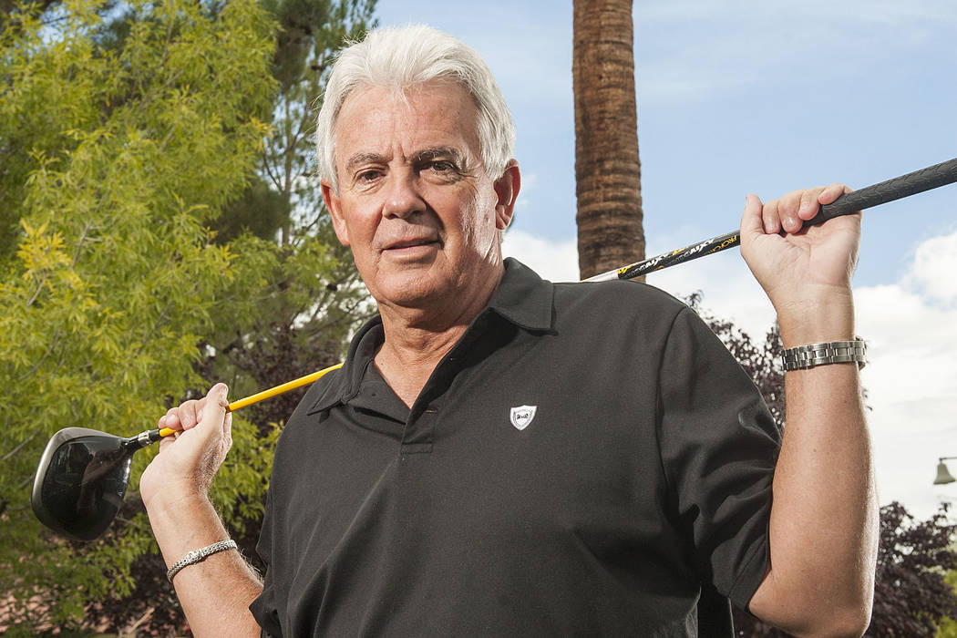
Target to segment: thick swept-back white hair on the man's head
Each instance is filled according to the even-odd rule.
[[[397,92],[431,81],[452,81],[469,92],[479,112],[479,150],[485,172],[498,179],[515,153],[515,125],[498,83],[479,54],[461,40],[424,25],[377,29],[337,57],[316,121],[319,176],[339,191],[336,120],[357,89]]]

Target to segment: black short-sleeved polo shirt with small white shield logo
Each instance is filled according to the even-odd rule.
[[[369,321],[279,438],[264,633],[684,636],[701,583],[750,600],[780,435],[679,301],[506,260],[412,409],[382,341]]]

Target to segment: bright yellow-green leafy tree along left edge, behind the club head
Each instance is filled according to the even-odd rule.
[[[251,0],[131,2],[111,48],[99,6],[0,16],[0,592],[5,621],[33,630],[78,626],[155,552],[142,515],[89,545],[39,525],[29,499],[47,439],[153,426],[165,402],[205,385],[197,343],[224,317],[249,324],[248,299],[268,294],[277,263],[255,243],[213,244],[206,228],[268,133],[268,13]],[[213,494],[245,514],[271,458],[256,434],[236,420]],[[134,496],[150,454],[135,458]]]

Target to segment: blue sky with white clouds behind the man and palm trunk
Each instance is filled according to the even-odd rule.
[[[951,0],[634,0],[648,256],[738,228],[745,196],[864,187],[957,157]],[[379,0],[482,55],[518,132],[523,186],[506,254],[578,279],[571,0]],[[957,456],[957,185],[864,212],[854,279],[879,500],[928,517]],[[677,297],[762,336],[774,319],[738,251],[661,273]],[[950,464],[957,475],[957,461]]]

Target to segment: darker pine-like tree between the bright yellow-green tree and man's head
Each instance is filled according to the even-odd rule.
[[[351,255],[335,238],[315,178],[315,115],[334,55],[374,25],[375,0],[263,0],[278,23],[272,127],[244,195],[212,224],[217,242],[272,243],[268,294],[248,299],[251,331],[228,318],[211,335],[211,377],[249,393],[336,363],[369,313]],[[242,295],[242,288],[236,291]],[[261,428],[288,416],[301,392],[251,410]]]

